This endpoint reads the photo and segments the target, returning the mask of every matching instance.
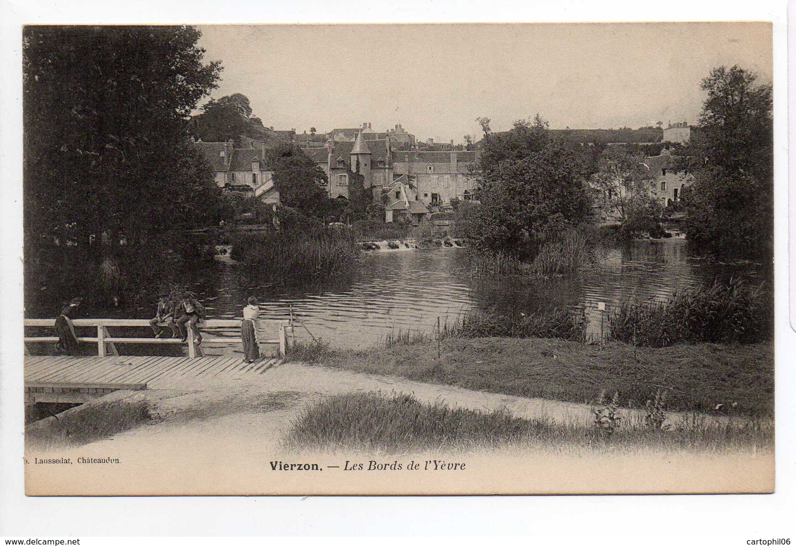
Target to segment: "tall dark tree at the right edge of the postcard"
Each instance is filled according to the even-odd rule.
[[[770,85],[733,66],[702,80],[706,91],[689,149],[694,183],[682,193],[696,246],[738,258],[773,257],[773,118]]]

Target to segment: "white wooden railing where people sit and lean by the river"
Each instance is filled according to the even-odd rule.
[[[279,339],[258,339],[259,344],[265,345],[279,345],[279,355],[285,356],[287,350],[287,327],[291,326],[291,321],[287,319],[257,319],[257,323],[277,323],[279,326]],[[119,355],[115,343],[185,343],[181,339],[168,339],[168,338],[119,338],[113,337],[108,332],[108,327],[146,327],[150,328],[149,320],[146,319],[74,319],[72,324],[76,327],[96,327],[96,338],[78,337],[80,343],[96,343],[97,354],[100,356],[107,356],[107,354]],[[26,327],[54,327],[55,319],[25,319]],[[161,324],[161,327],[166,327],[166,324]],[[187,325],[185,326],[187,328]],[[231,319],[209,319],[199,323],[198,328],[205,331],[208,328],[223,328],[223,327],[238,327],[240,328],[240,320]],[[57,336],[39,336],[27,337],[25,336],[25,343],[55,343],[58,341]],[[188,336],[188,357],[196,358],[197,356],[204,356],[201,347],[197,343],[193,343],[193,335]],[[226,344],[226,343],[243,343],[240,337],[203,337],[203,344]]]

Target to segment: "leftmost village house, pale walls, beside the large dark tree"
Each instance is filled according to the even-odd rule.
[[[232,192],[252,192],[263,203],[279,203],[274,172],[265,161],[265,149],[235,148],[232,141],[193,143],[213,168],[219,188]]]

